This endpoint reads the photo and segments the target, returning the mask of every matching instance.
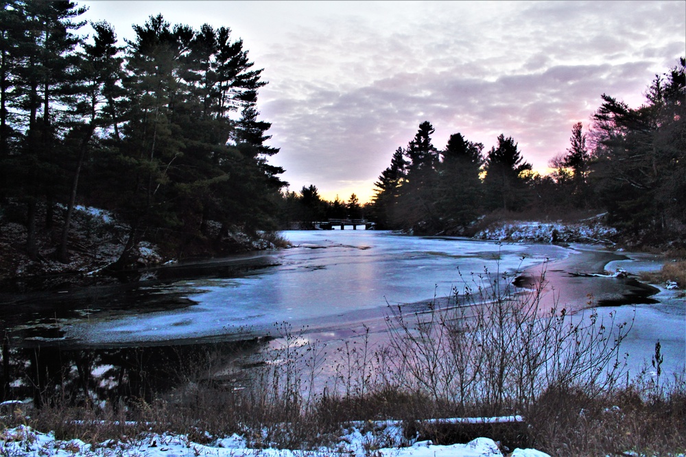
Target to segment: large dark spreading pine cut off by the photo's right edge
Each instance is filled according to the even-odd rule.
[[[603,94],[593,115],[589,179],[610,222],[651,243],[683,236],[686,225],[684,63],[653,80],[645,105],[629,108]]]

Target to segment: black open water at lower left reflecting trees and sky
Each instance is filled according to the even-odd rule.
[[[268,338],[224,343],[113,347],[108,349],[62,348],[60,345],[11,347],[3,345],[2,399],[32,399],[35,406],[65,399],[71,404],[128,399],[152,400],[189,382],[237,385],[239,365],[233,375],[208,377],[208,370],[232,365],[241,355],[259,351]]]

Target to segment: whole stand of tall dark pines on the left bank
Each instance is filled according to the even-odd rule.
[[[85,10],[8,0],[0,12],[0,205],[23,208],[29,257],[60,221],[56,256],[69,261],[77,203],[130,227],[122,268],[143,238],[178,248],[275,228],[286,183],[267,162],[278,149],[257,111],[266,82],[243,42],[158,15],[119,47],[106,22],[78,34]]]

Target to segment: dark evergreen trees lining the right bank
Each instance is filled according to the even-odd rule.
[[[434,127],[419,125],[375,182],[368,215],[380,227],[416,233],[468,234],[484,214],[606,212],[622,233],[646,243],[686,235],[685,61],[657,76],[646,103],[629,108],[602,95],[589,132],[572,127],[570,147],[540,175],[517,143],[501,134],[484,145],[460,133],[443,149]]]

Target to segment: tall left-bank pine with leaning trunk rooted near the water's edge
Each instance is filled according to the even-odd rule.
[[[170,201],[169,169],[182,156],[175,115],[189,92],[182,79],[182,57],[189,52],[192,30],[180,25],[171,29],[161,15],[133,28],[136,37],[127,41],[123,79],[128,109],[122,114],[126,123],[115,159],[123,167],[123,179],[113,189],[117,214],[130,224],[130,231],[115,268],[128,266],[149,227],[179,225]]]

